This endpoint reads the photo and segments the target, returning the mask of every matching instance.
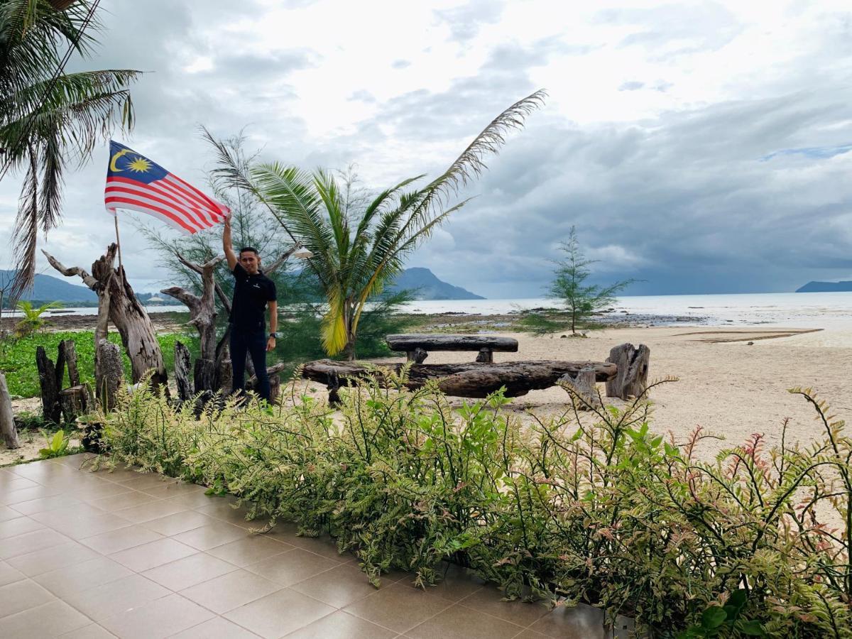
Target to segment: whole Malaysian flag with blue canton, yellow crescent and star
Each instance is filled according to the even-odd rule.
[[[110,141],[109,155],[104,204],[113,216],[116,209],[139,210],[183,233],[196,233],[222,222],[230,211],[123,144]]]

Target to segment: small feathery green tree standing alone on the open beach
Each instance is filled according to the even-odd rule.
[[[586,279],[589,279],[591,275],[588,267],[596,260],[588,260],[584,257],[577,239],[577,230],[574,227],[571,227],[568,241],[563,242],[560,248],[567,257],[555,261],[556,279],[550,283],[547,295],[565,304],[570,314],[571,332],[576,334],[579,321],[589,318],[596,311],[612,306],[616,300],[616,293],[623,291],[626,286],[636,280],[625,279],[603,287],[585,284]]]

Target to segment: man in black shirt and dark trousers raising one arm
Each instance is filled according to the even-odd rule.
[[[233,393],[245,392],[245,355],[251,355],[257,375],[257,394],[269,401],[269,376],[266,371],[267,351],[275,348],[278,337],[278,302],[275,283],[261,271],[261,256],[257,250],[245,246],[234,254],[231,245],[231,216],[225,217],[222,248],[227,257],[227,267],[234,277],[233,302],[231,302],[231,364],[233,366]],[[269,308],[269,329],[266,334],[264,311]]]

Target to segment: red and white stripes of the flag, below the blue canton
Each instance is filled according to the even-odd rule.
[[[121,176],[107,177],[104,204],[116,209],[138,210],[177,228],[197,233],[222,222],[230,209],[171,174],[150,184]]]

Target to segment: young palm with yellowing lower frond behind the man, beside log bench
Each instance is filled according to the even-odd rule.
[[[348,182],[325,170],[308,172],[279,163],[259,164],[250,171],[207,134],[216,147],[216,175],[233,186],[249,188],[267,204],[287,233],[313,256],[309,263],[320,279],[327,310],[322,323],[326,353],[354,360],[358,322],[366,302],[377,296],[403,268],[411,254],[435,228],[468,201],[448,204],[458,189],[497,153],[504,135],[544,103],[544,91],[515,102],[486,126],[443,174],[422,188],[410,188],[424,175],[385,189],[371,201],[349,197]]]

